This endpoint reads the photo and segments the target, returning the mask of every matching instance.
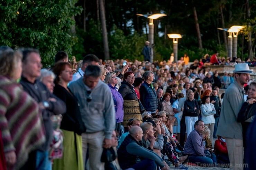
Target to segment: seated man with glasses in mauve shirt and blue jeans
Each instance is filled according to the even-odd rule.
[[[194,130],[190,132],[188,139],[184,146],[184,154],[190,154],[189,161],[192,163],[216,164],[216,156],[212,154],[211,158],[208,158],[204,154],[204,142],[202,132],[204,131],[204,122],[198,120],[194,124]]]

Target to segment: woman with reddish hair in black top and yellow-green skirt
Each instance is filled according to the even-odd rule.
[[[53,170],[83,170],[82,136],[85,132],[80,114],[80,104],[73,93],[67,88],[73,78],[72,66],[66,62],[56,63],[53,67],[56,74],[56,85],[53,93],[66,103],[66,113],[63,114],[61,130],[63,131],[63,157],[53,162]]]

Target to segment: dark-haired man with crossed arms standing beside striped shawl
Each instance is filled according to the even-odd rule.
[[[46,142],[36,150],[36,169],[51,170],[51,162],[48,157],[48,150],[53,137],[53,114],[66,112],[65,103],[52,94],[47,87],[37,80],[41,75],[41,57],[37,49],[26,48],[22,50],[22,76],[20,84],[23,89],[38,102],[42,111],[42,118],[45,128]],[[33,163],[33,162],[32,162]]]

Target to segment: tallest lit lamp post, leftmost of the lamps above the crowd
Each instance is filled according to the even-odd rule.
[[[149,18],[149,24],[148,24],[148,41],[150,42],[151,45],[151,56],[150,56],[150,62],[153,63],[153,56],[154,56],[154,51],[153,51],[153,44],[154,44],[154,23],[153,20],[166,16],[166,14],[162,13],[156,13],[153,15],[148,16],[147,14],[136,14],[137,16],[143,16],[146,18]]]

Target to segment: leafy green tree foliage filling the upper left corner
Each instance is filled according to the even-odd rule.
[[[0,5],[0,45],[40,50],[44,67],[53,64],[55,54],[72,54],[77,37],[70,32],[71,18],[82,11],[77,0],[8,0]]]

